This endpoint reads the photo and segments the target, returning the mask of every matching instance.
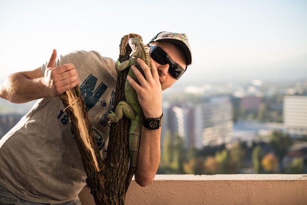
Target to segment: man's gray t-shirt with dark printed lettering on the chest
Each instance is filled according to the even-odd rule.
[[[102,157],[106,156],[113,108],[115,62],[96,51],[61,55],[56,65],[73,63]],[[46,65],[42,66],[44,74]],[[77,199],[86,173],[64,106],[58,97],[37,100],[0,140],[0,185],[18,197],[39,203]]]

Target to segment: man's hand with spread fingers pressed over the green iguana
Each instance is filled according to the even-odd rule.
[[[137,63],[144,71],[145,77],[141,72],[132,65],[131,69],[134,75],[140,82],[140,85],[136,83],[132,77],[128,76],[128,81],[137,93],[139,103],[144,112],[145,118],[158,118],[162,115],[162,88],[159,80],[157,69],[151,59],[152,72],[146,65],[146,63],[138,58]]]

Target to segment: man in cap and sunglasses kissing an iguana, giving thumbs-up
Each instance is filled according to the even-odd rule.
[[[152,72],[141,60],[132,70],[145,121],[162,116],[162,90],[172,86],[192,62],[185,34],[160,32],[149,43]],[[114,60],[96,51],[74,51],[32,71],[9,76],[0,97],[12,103],[37,100],[21,121],[0,140],[0,204],[80,204],[86,173],[71,124],[59,94],[78,85],[83,94],[102,157],[106,156],[117,73]],[[160,161],[161,128],[142,128],[135,181],[150,184]]]

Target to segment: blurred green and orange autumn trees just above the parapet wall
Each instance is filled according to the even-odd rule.
[[[184,138],[168,132],[162,142],[162,154],[158,174],[302,174],[307,163],[304,154],[285,161],[291,146],[307,137],[293,139],[279,130],[273,131],[266,140],[253,142],[248,147],[245,142],[205,146],[201,150],[185,148]]]

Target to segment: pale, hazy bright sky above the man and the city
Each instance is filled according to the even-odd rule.
[[[41,66],[52,49],[116,59],[124,35],[147,43],[165,30],[189,39],[193,63],[182,82],[291,69],[307,79],[307,0],[0,0],[0,78]]]

